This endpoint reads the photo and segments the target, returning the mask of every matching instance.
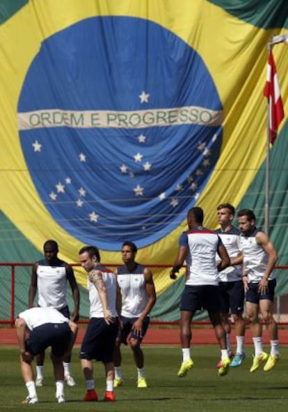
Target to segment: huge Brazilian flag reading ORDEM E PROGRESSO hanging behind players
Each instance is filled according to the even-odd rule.
[[[267,43],[287,33],[287,0],[0,0],[0,24],[1,261],[53,238],[69,262],[92,244],[120,263],[132,240],[141,263],[172,265],[195,204],[211,228],[221,202],[263,226]],[[273,53],[288,113],[288,47]],[[287,134],[286,115],[269,199],[283,265]],[[177,319],[183,277],[154,278],[153,317]]]

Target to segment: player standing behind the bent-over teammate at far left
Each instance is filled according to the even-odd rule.
[[[58,258],[58,244],[55,240],[47,240],[43,245],[43,250],[45,258],[36,262],[32,269],[29,308],[33,307],[35,295],[38,291],[38,306],[41,308],[56,308],[66,318],[77,322],[79,319],[80,293],[72,266]],[[74,310],[71,315],[67,306],[67,281],[71,286],[74,301]],[[44,384],[44,361],[45,352],[36,356],[36,386],[43,386]],[[68,353],[63,360],[65,381],[68,386],[75,386],[75,381],[70,372],[70,362],[71,353]]]

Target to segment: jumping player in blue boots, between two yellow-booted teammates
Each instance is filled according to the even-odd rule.
[[[216,230],[216,233],[221,237],[231,261],[231,266],[219,272],[218,277],[221,292],[221,318],[226,333],[227,349],[230,359],[234,356],[230,345],[230,313],[235,324],[237,349],[236,355],[230,365],[232,367],[240,366],[245,358],[244,338],[246,329],[246,324],[242,317],[244,310],[242,267],[239,265],[239,263],[242,263],[243,258],[238,246],[240,231],[232,225],[234,214],[235,209],[232,204],[219,204],[217,207],[218,223],[221,227]]]

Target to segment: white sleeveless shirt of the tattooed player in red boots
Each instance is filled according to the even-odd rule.
[[[116,275],[111,272],[111,270],[102,265],[97,265],[95,267],[95,270],[100,270],[102,272],[102,279],[106,286],[108,308],[111,312],[111,315],[116,318],[118,316],[118,313],[116,311]],[[92,282],[90,282],[89,275],[87,277],[87,288],[90,300],[90,318],[104,318],[101,299],[99,297],[96,286]]]

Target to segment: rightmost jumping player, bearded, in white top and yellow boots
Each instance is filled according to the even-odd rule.
[[[273,298],[276,286],[274,267],[278,254],[269,236],[257,229],[255,213],[250,209],[238,212],[241,231],[239,249],[243,254],[243,283],[246,292],[246,314],[250,320],[255,356],[250,372],[255,372],[264,363],[269,372],[279,360],[278,327],[273,318]],[[259,314],[269,330],[271,352],[263,351],[262,325]]]

